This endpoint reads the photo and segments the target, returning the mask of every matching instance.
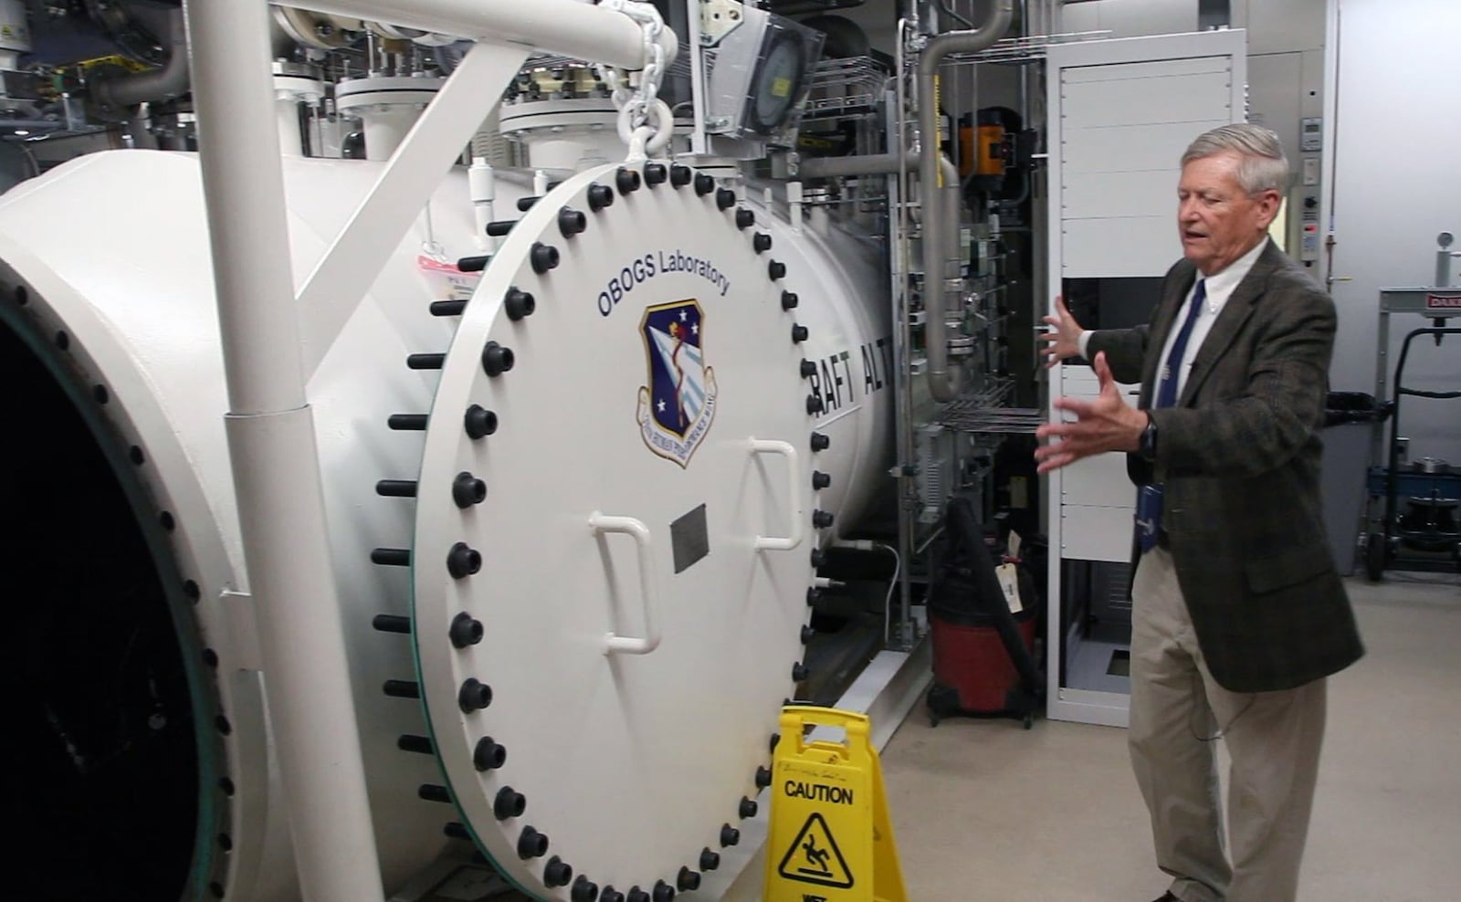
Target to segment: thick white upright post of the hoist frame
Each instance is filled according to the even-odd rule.
[[[259,617],[270,736],[300,886],[384,898],[305,403],[269,7],[187,4],[199,150],[228,381],[228,447]]]

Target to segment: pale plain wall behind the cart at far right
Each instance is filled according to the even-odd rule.
[[[1338,0],[1338,32],[1334,276],[1351,280],[1331,288],[1340,308],[1331,382],[1372,391],[1379,288],[1429,285],[1436,234],[1461,234],[1461,3]],[[1391,321],[1392,333],[1426,324],[1414,315]],[[1391,361],[1398,347],[1397,339]],[[1461,388],[1461,339],[1439,349],[1426,342],[1411,359],[1407,384]],[[1404,406],[1411,458],[1461,464],[1461,401],[1407,398]]]

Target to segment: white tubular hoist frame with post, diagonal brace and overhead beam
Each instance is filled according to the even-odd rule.
[[[532,48],[643,69],[644,32],[619,12],[621,1],[304,3],[476,38],[479,45],[392,155],[298,295],[269,66],[269,4],[187,3],[247,591],[257,604],[270,731],[305,899],[384,898],[305,384],[380,274],[384,251],[400,242]],[[672,32],[662,39],[672,57]],[[301,311],[314,327],[308,347],[301,346]]]

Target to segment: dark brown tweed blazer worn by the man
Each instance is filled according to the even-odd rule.
[[[1173,266],[1148,325],[1091,333],[1151,404],[1159,358],[1197,269]],[[1175,407],[1153,410],[1163,527],[1213,677],[1233,692],[1292,689],[1365,652],[1334,569],[1319,498],[1319,429],[1334,302],[1271,241],[1202,342]]]

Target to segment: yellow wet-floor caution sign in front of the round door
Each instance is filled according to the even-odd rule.
[[[766,902],[907,902],[868,715],[792,705],[780,725]],[[808,741],[806,727],[847,739]]]

